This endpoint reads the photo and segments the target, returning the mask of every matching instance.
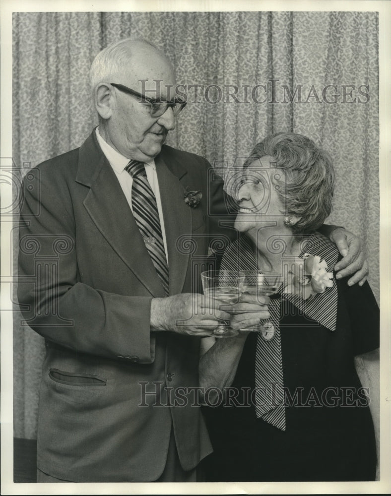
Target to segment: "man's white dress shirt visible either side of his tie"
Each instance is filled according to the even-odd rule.
[[[102,136],[99,134],[99,127],[96,128],[96,138],[98,140],[99,146],[102,149],[102,152],[104,153],[105,157],[109,161],[109,164],[113,168],[113,171],[115,172],[115,175],[117,176],[117,179],[129,203],[130,209],[133,212],[131,206],[131,186],[133,184],[133,178],[131,177],[129,172],[125,170],[125,167],[129,164],[130,160],[129,158],[124,157],[124,155],[121,155],[121,153],[115,150],[112,146],[109,145],[109,143],[107,143],[102,138]],[[157,210],[159,212],[159,219],[160,219],[160,227],[162,229],[164,251],[166,252],[166,259],[168,264],[166,231],[164,229],[162,202],[160,199],[159,183],[157,181],[156,165],[154,160],[145,163],[145,172],[147,175],[148,182],[153,191],[153,194],[155,195],[156,198]]]

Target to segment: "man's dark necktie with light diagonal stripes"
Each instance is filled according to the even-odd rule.
[[[155,195],[146,177],[145,166],[142,162],[131,160],[125,169],[133,178],[131,187],[133,217],[163,284],[164,291],[168,295],[168,265]]]

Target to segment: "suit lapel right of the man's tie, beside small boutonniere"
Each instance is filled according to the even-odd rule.
[[[181,183],[186,169],[173,158],[165,162],[163,157],[164,153],[156,157],[155,164],[166,232],[170,295],[175,295],[182,292],[189,264],[190,253],[180,247],[185,246],[181,236],[191,239],[192,213],[185,204],[185,187]]]

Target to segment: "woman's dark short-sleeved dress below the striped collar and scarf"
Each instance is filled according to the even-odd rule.
[[[204,408],[214,449],[207,481],[374,480],[373,422],[353,357],[379,347],[379,310],[368,283],[337,287],[335,331],[282,297],[285,431],[257,419],[254,405]],[[232,384],[239,405],[251,404],[243,388],[255,388],[256,342],[250,333]]]

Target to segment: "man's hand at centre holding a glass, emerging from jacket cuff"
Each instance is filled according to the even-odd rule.
[[[197,293],[154,298],[151,301],[151,330],[209,336],[219,320],[230,319],[229,313],[219,309],[222,305]]]

